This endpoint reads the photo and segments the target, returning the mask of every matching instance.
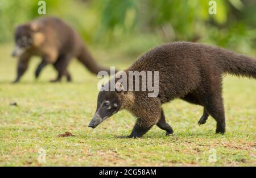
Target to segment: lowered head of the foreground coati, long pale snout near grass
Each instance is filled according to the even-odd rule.
[[[117,113],[123,104],[125,92],[120,82],[115,84],[115,91],[98,93],[97,109],[88,127],[96,128],[101,122]]]

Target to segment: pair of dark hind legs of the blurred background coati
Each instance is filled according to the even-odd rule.
[[[70,60],[71,60],[71,57],[69,56],[60,56],[57,59],[56,63],[53,64],[56,71],[58,72],[57,78],[55,80],[51,80],[51,82],[60,82],[63,75],[66,75],[67,80],[71,81],[71,74],[67,71],[67,67]]]

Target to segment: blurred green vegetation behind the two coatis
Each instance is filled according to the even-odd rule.
[[[46,0],[46,13],[71,24],[88,45],[138,56],[164,42],[187,40],[255,54],[256,1]],[[15,24],[38,16],[38,1],[0,1],[0,43],[13,40]]]

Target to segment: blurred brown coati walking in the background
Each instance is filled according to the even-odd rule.
[[[52,81],[60,81],[62,76],[67,76],[67,80],[71,81],[67,67],[73,57],[94,74],[99,71],[110,73],[109,69],[102,68],[96,63],[77,32],[58,18],[39,18],[18,26],[15,31],[15,44],[13,56],[19,56],[19,60],[14,82],[20,80],[27,69],[30,57],[34,55],[42,57],[42,63],[35,72],[36,78],[47,64],[53,64],[58,75]]]

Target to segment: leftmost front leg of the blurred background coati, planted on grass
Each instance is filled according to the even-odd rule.
[[[18,66],[17,66],[17,76],[13,83],[19,82],[20,77],[27,71],[28,61],[30,60],[31,55],[24,52],[18,59]]]

